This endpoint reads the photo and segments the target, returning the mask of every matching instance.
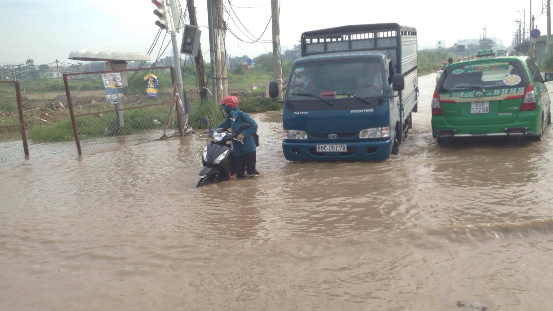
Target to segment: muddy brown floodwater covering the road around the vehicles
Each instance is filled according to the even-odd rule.
[[[440,147],[434,85],[378,163],[287,162],[269,112],[247,180],[194,188],[199,134],[0,168],[0,309],[551,309],[551,128]]]

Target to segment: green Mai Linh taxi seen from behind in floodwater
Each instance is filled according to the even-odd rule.
[[[486,54],[486,52],[488,52]],[[447,65],[432,97],[432,136],[526,136],[540,141],[551,124],[549,94],[528,56],[493,56]]]

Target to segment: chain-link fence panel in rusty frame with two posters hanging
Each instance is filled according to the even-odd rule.
[[[64,74],[79,154],[179,134],[174,81],[172,67]]]

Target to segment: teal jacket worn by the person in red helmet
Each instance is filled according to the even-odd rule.
[[[228,107],[228,106],[223,106]],[[228,112],[228,117],[223,121],[220,125],[216,126],[215,128],[232,128],[232,132],[239,134],[242,132],[244,134],[244,143],[240,142],[232,142],[232,147],[234,149],[234,155],[239,156],[243,155],[252,151],[255,151],[255,141],[252,137],[252,134],[257,131],[257,122],[255,122],[252,117],[248,116],[246,112],[240,111],[238,108],[234,109],[226,109]],[[235,121],[231,120],[231,117],[235,119]],[[242,125],[243,122],[246,122],[250,125],[248,129],[245,131],[239,131],[238,127]],[[214,128],[214,129],[215,129]]]

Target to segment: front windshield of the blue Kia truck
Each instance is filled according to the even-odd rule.
[[[383,94],[383,65],[378,58],[350,58],[306,61],[292,69],[286,86],[286,99],[313,100],[312,94],[326,100],[377,97]]]

